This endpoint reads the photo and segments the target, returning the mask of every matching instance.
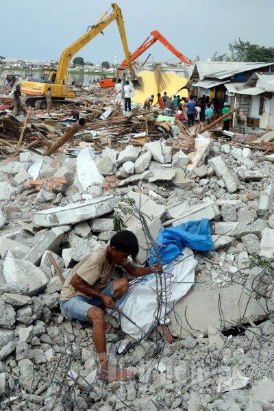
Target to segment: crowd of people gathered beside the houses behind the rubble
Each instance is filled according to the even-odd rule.
[[[154,95],[148,97],[143,105],[143,108],[149,109],[152,107],[154,101]],[[166,114],[174,114],[179,121],[182,121],[188,127],[195,123],[206,121],[210,124],[216,114],[216,107],[214,100],[210,100],[209,96],[203,95],[203,97],[180,97],[174,95],[172,98],[166,94],[166,91],[161,96],[160,92],[157,94],[157,102],[154,105],[158,105],[160,110],[165,110]],[[221,114],[227,114],[230,112],[230,106],[227,102],[223,103],[223,109]],[[229,130],[229,116],[223,119],[223,129]]]

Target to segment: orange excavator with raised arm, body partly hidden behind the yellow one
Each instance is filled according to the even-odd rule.
[[[134,62],[134,60],[136,60],[136,58],[138,58],[139,55],[141,55],[147,49],[149,49],[149,47],[151,47],[157,40],[159,40],[162,43],[162,45],[164,45],[164,47],[166,47],[166,49],[169,49],[169,51],[171,51],[171,53],[176,55],[177,58],[179,58],[179,60],[181,60],[184,64],[188,64],[188,65],[191,64],[191,61],[188,60],[188,58],[186,58],[186,56],[184,54],[180,53],[177,49],[175,49],[175,47],[173,47],[173,45],[171,45],[169,40],[166,40],[166,38],[164,36],[162,36],[162,34],[160,32],[158,32],[158,30],[153,30],[153,32],[151,32],[149,37],[147,37],[145,39],[145,41],[142,43],[142,45],[140,45],[140,47],[138,47],[138,49],[136,49],[136,51],[134,51],[134,53],[131,54],[132,62]],[[119,73],[119,71],[125,70],[126,68],[127,68],[127,59],[123,60],[121,66],[119,67],[117,72]],[[118,73],[117,73],[117,75],[119,75]],[[112,79],[101,79],[100,80],[100,87],[102,87],[102,88],[114,87],[115,82],[116,82],[115,77],[112,78]]]

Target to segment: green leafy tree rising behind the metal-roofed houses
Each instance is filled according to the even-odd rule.
[[[273,62],[274,47],[251,45],[249,41],[234,40],[229,43],[229,50],[234,61],[238,62]]]

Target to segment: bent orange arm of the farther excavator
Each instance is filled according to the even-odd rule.
[[[166,40],[166,38],[162,36],[160,32],[158,32],[158,30],[153,30],[153,32],[151,32],[151,36],[152,38],[149,38],[150,36],[147,37],[145,41],[142,43],[142,45],[140,45],[140,47],[138,47],[138,49],[136,49],[136,51],[132,53],[132,62],[134,62],[134,60],[136,60],[136,58],[138,58],[139,55],[144,53],[158,40],[162,43],[162,45],[164,45],[164,47],[166,47],[166,49],[169,49],[169,51],[176,55],[177,58],[179,58],[179,60],[181,60],[183,63],[191,64],[191,61],[188,60],[188,58],[186,58],[184,54],[180,53],[177,49],[175,49],[175,47],[173,47],[173,45],[171,45],[171,43],[168,40]],[[127,67],[127,59],[123,60],[121,64],[121,69],[125,69],[125,67]]]

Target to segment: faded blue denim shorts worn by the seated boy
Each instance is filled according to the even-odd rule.
[[[109,297],[114,297],[113,290],[114,281],[110,282],[100,293],[103,295],[108,295]],[[76,295],[67,301],[60,301],[60,309],[62,314],[70,319],[76,319],[79,321],[89,321],[88,310],[92,307],[101,306],[102,301],[97,297],[84,297],[83,295]]]

